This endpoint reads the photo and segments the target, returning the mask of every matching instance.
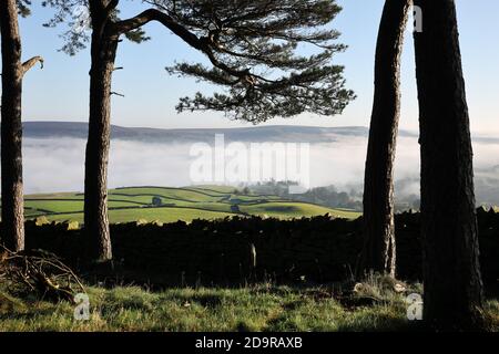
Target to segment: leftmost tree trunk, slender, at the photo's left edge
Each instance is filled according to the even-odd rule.
[[[16,0],[0,1],[2,48],[1,186],[2,239],[11,250],[24,249],[21,96],[23,66]]]

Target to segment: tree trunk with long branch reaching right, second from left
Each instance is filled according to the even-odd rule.
[[[85,152],[84,228],[92,260],[112,258],[108,218],[108,160],[111,127],[111,79],[118,38],[94,15],[90,70],[90,117]]]

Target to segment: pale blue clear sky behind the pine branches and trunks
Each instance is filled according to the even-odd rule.
[[[88,51],[70,58],[58,52],[62,45],[60,29],[45,29],[42,23],[51,10],[33,1],[33,14],[21,20],[23,56],[42,55],[43,70],[32,70],[24,80],[24,121],[88,119],[88,87],[90,55]],[[369,124],[373,104],[373,72],[376,35],[383,0],[339,0],[344,11],[334,28],[343,35],[340,42],[349,48],[338,55],[337,63],[346,66],[347,86],[357,94],[340,116],[316,117],[305,114],[297,118],[273,119],[266,124],[301,124],[346,126]],[[461,52],[467,82],[471,127],[475,133],[499,135],[499,34],[495,28],[499,13],[497,0],[457,0]],[[133,15],[141,1],[122,1],[122,15]],[[247,124],[231,122],[222,113],[182,113],[174,106],[181,96],[212,90],[192,79],[169,76],[165,66],[175,61],[198,61],[201,54],[170,34],[160,24],[147,24],[150,42],[120,44],[113,90],[125,97],[113,97],[112,123],[123,126],[150,127],[237,127]],[[416,131],[417,95],[411,34],[407,32],[403,64],[401,128]],[[436,53],[437,54],[437,53]]]

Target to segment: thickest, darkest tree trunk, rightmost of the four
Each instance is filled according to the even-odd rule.
[[[421,145],[424,317],[438,329],[480,321],[472,148],[454,0],[416,0]]]

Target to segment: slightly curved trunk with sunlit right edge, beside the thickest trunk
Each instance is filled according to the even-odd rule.
[[[400,115],[400,58],[411,0],[387,0],[379,25],[375,94],[364,179],[364,248],[357,275],[395,277],[394,159]]]

